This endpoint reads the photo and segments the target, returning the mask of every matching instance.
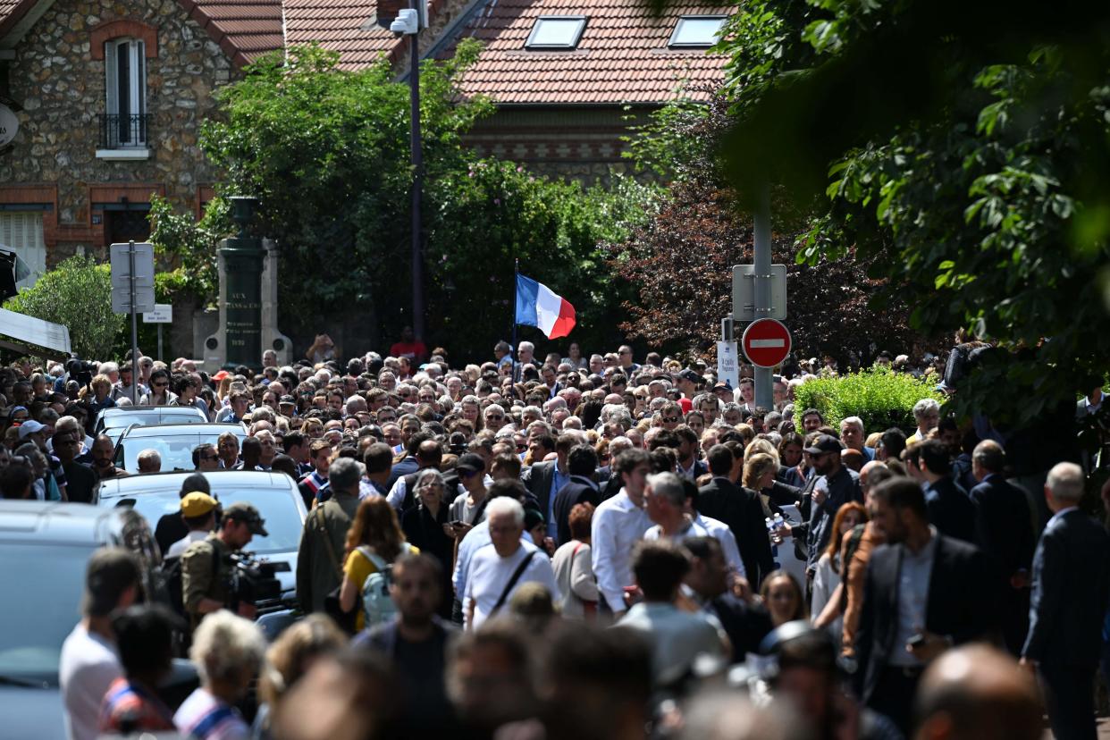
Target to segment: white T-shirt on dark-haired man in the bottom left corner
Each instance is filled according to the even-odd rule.
[[[65,732],[72,740],[94,740],[100,702],[112,681],[123,676],[115,647],[80,622],[62,642],[58,680],[65,707]]]

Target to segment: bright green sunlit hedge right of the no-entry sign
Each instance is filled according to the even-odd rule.
[[[801,412],[807,408],[819,410],[833,427],[838,427],[844,418],[858,416],[864,419],[868,434],[892,426],[910,430],[917,428],[914,404],[921,398],[945,402],[945,397],[934,391],[934,383],[876,366],[801,384],[794,392],[794,418],[799,432]]]

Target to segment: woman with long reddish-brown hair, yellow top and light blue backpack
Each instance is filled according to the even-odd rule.
[[[347,529],[346,560],[340,586],[340,607],[350,614],[359,606],[366,579],[384,571],[403,553],[420,553],[405,541],[397,513],[382,496],[371,496],[359,505],[354,521]],[[359,609],[355,629],[365,627],[366,614]]]

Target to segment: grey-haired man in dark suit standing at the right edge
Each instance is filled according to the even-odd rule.
[[[1110,537],[1079,509],[1083,472],[1059,463],[1048,474],[1045,500],[1053,511],[1033,556],[1029,636],[1021,662],[1046,687],[1052,734],[1096,737],[1093,682],[1110,589]]]

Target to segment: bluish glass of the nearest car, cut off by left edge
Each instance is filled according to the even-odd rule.
[[[54,677],[62,642],[81,619],[92,547],[0,543],[0,676]],[[18,597],[16,596],[18,595]]]

